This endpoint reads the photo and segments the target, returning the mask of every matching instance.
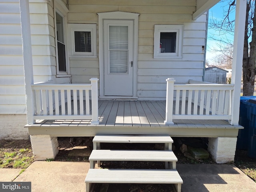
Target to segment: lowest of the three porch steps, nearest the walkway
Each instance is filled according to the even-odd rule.
[[[90,169],[85,183],[86,192],[92,183],[174,184],[177,192],[181,192],[183,180],[177,170]]]

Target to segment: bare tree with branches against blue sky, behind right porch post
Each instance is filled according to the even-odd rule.
[[[211,38],[218,41],[217,48],[213,48],[212,51],[218,51],[222,54],[230,57],[232,60],[232,54],[230,50],[233,47],[233,41],[230,40],[230,35],[234,36],[234,14],[236,7],[235,0],[222,0],[226,2],[227,6],[224,6],[224,16],[222,21],[210,20],[209,27],[215,30],[218,29],[218,34],[212,34]],[[245,23],[245,36],[244,36],[244,53],[243,53],[243,95],[252,96],[254,94],[254,80],[256,75],[256,24],[255,18],[255,1],[247,0],[246,9],[246,23]]]

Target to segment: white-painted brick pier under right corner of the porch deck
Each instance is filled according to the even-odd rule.
[[[216,163],[234,161],[237,138],[218,137],[208,139],[208,151]]]

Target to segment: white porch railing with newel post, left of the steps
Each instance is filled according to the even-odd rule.
[[[33,84],[34,120],[79,119],[99,124],[98,78],[90,81],[91,84]]]

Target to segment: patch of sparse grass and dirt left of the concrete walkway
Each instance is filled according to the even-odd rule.
[[[0,168],[21,168],[34,162],[29,140],[0,140]]]

